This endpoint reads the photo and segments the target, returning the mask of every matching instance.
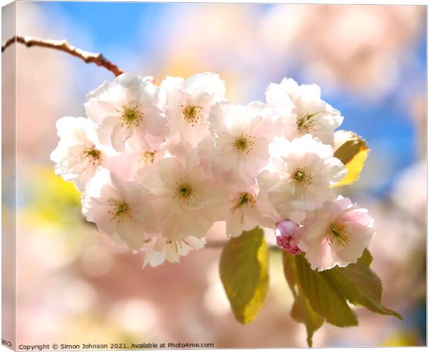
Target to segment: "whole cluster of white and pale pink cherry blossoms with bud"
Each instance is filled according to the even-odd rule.
[[[143,250],[144,266],[204,248],[217,221],[228,237],[273,229],[319,271],[356,262],[373,237],[367,210],[332,191],[347,173],[334,157],[343,117],[314,84],[283,79],[266,103],[244,106],[227,101],[218,74],[160,86],[121,74],[84,107],[86,118],[58,120],[51,160],[83,192],[86,219]]]

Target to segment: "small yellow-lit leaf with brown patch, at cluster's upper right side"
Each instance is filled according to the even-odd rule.
[[[340,159],[348,170],[334,187],[345,186],[357,180],[370,149],[366,141],[352,131],[336,131],[334,138],[334,157]]]

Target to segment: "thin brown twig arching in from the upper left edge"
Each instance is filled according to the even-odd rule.
[[[3,52],[7,47],[12,45],[14,42],[20,42],[26,47],[47,47],[51,49],[56,49],[60,51],[65,51],[67,54],[81,58],[85,63],[95,63],[97,66],[105,67],[106,70],[111,71],[115,76],[120,76],[123,71],[112,63],[102,54],[94,54],[89,51],[85,51],[70,45],[66,40],[48,40],[40,38],[32,38],[24,35],[15,35],[12,38],[6,40],[5,44],[1,46],[1,52]]]

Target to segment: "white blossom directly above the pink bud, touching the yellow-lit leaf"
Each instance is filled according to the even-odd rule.
[[[347,172],[332,147],[310,134],[291,142],[276,137],[270,152],[272,163],[257,180],[284,218],[293,219],[293,211],[311,211],[332,198],[330,186]]]

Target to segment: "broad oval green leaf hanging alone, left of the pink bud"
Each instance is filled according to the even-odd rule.
[[[230,239],[220,258],[220,278],[231,310],[240,323],[251,323],[268,291],[268,247],[260,227]]]

